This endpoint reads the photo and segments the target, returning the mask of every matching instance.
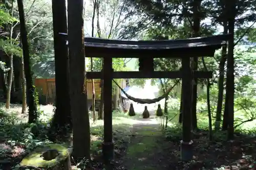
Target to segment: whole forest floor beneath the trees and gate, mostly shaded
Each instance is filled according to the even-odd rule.
[[[2,119],[3,120],[3,119]],[[100,124],[100,125],[98,125]],[[43,131],[40,131],[43,132]],[[226,134],[215,132],[214,141],[208,140],[207,131],[193,133],[194,157],[192,161],[180,161],[181,128],[169,127],[165,133],[151,118],[141,114],[113,115],[113,139],[115,142],[115,169],[127,170],[255,170],[256,137],[236,134],[233,141],[225,141]],[[44,132],[46,133],[46,132]],[[39,137],[31,134],[27,124],[0,124],[0,169],[11,169],[29,151],[29,148],[45,142],[44,133]],[[31,137],[32,136],[32,137]],[[101,142],[103,123],[91,126],[92,169],[103,169]],[[83,169],[83,168],[81,168]]]

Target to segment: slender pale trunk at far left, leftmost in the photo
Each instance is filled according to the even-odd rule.
[[[13,16],[13,1],[11,1],[11,12],[10,15]],[[13,34],[13,24],[11,23],[10,31],[9,31],[9,38],[10,43],[12,44],[12,34]],[[12,77],[13,77],[13,54],[8,54],[9,57],[9,68],[8,71],[8,84],[7,84],[7,94],[6,94],[6,108],[10,109],[11,104],[11,90],[12,90]]]

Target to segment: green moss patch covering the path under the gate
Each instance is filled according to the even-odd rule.
[[[162,140],[162,131],[160,131],[159,125],[134,125],[133,134],[127,148],[127,167],[131,170],[156,169],[159,165],[158,153],[161,151],[158,140]]]

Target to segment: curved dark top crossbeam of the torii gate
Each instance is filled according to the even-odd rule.
[[[59,33],[66,36],[67,33]],[[212,57],[230,38],[230,35],[216,35],[177,40],[129,41],[86,37],[86,57],[112,58],[190,58]],[[68,44],[68,41],[67,41]]]

